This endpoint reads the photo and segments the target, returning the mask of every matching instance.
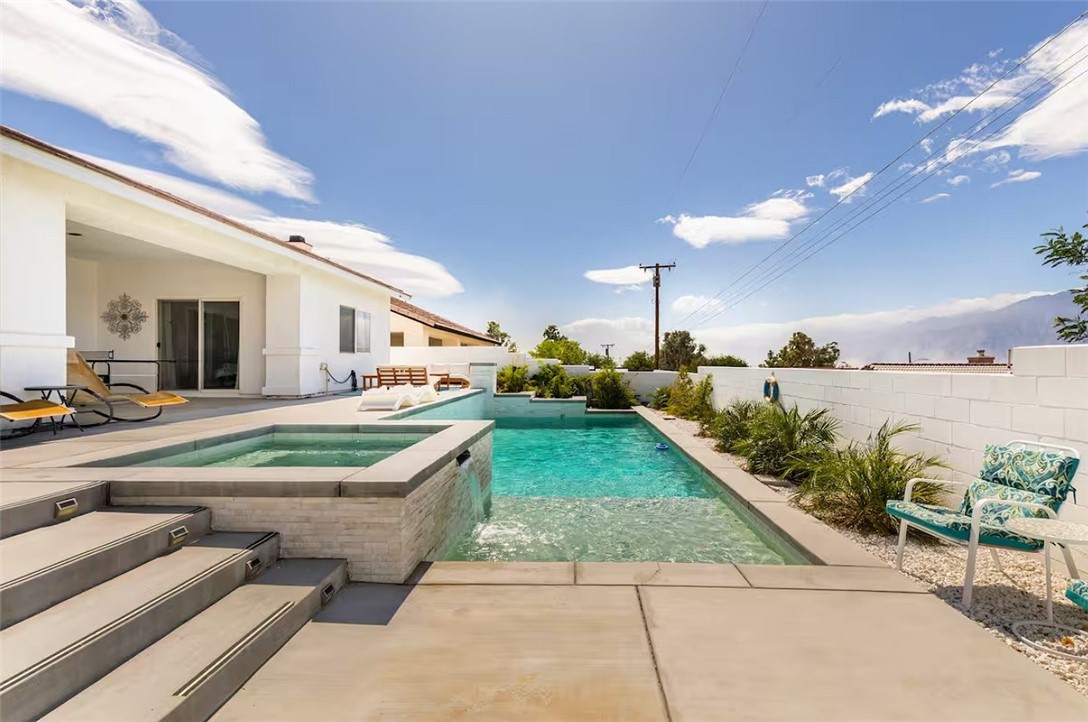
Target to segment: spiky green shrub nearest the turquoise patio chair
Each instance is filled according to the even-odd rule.
[[[793,466],[804,482],[793,495],[799,507],[829,524],[858,532],[891,533],[895,520],[885,512],[889,499],[902,499],[906,483],[926,475],[931,466],[945,466],[937,456],[903,453],[892,447],[900,434],[918,430],[914,424],[885,422],[876,436],[843,449],[825,447]],[[938,503],[940,486],[916,484],[911,499]]]

